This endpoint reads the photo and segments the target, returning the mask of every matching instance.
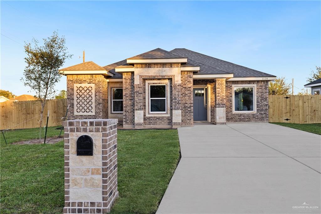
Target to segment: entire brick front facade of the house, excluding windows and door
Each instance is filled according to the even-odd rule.
[[[103,75],[67,75],[68,119],[116,118],[123,121],[124,128],[193,125],[193,87],[200,85],[207,88],[209,122],[268,122],[268,81],[193,80],[193,72],[179,71],[178,74],[180,64],[135,64],[134,67],[141,69],[141,73],[123,73],[123,82],[108,82],[108,87]],[[146,86],[158,84],[158,81],[167,81],[164,84],[170,91],[168,112],[164,114],[153,114],[148,109],[149,90],[146,91]],[[74,84],[95,84],[95,115],[74,115]],[[232,85],[240,84],[256,85],[256,112],[233,113]],[[123,113],[112,113],[111,90],[119,87],[123,88]]]

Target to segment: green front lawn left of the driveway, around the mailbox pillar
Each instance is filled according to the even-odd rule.
[[[29,140],[37,131],[16,130],[6,138],[9,143]],[[59,132],[51,127],[48,136]],[[62,213],[63,141],[6,145],[0,140],[1,213]],[[177,130],[118,130],[120,197],[111,213],[154,213],[178,160]]]

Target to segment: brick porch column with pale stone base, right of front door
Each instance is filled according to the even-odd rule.
[[[215,82],[215,124],[226,124],[225,116],[225,81],[216,79]]]

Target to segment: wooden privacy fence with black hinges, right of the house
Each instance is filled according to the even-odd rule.
[[[321,123],[321,95],[269,95],[269,122]]]

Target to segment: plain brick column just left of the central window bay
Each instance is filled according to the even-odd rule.
[[[124,128],[134,128],[134,73],[123,73],[123,126]]]

